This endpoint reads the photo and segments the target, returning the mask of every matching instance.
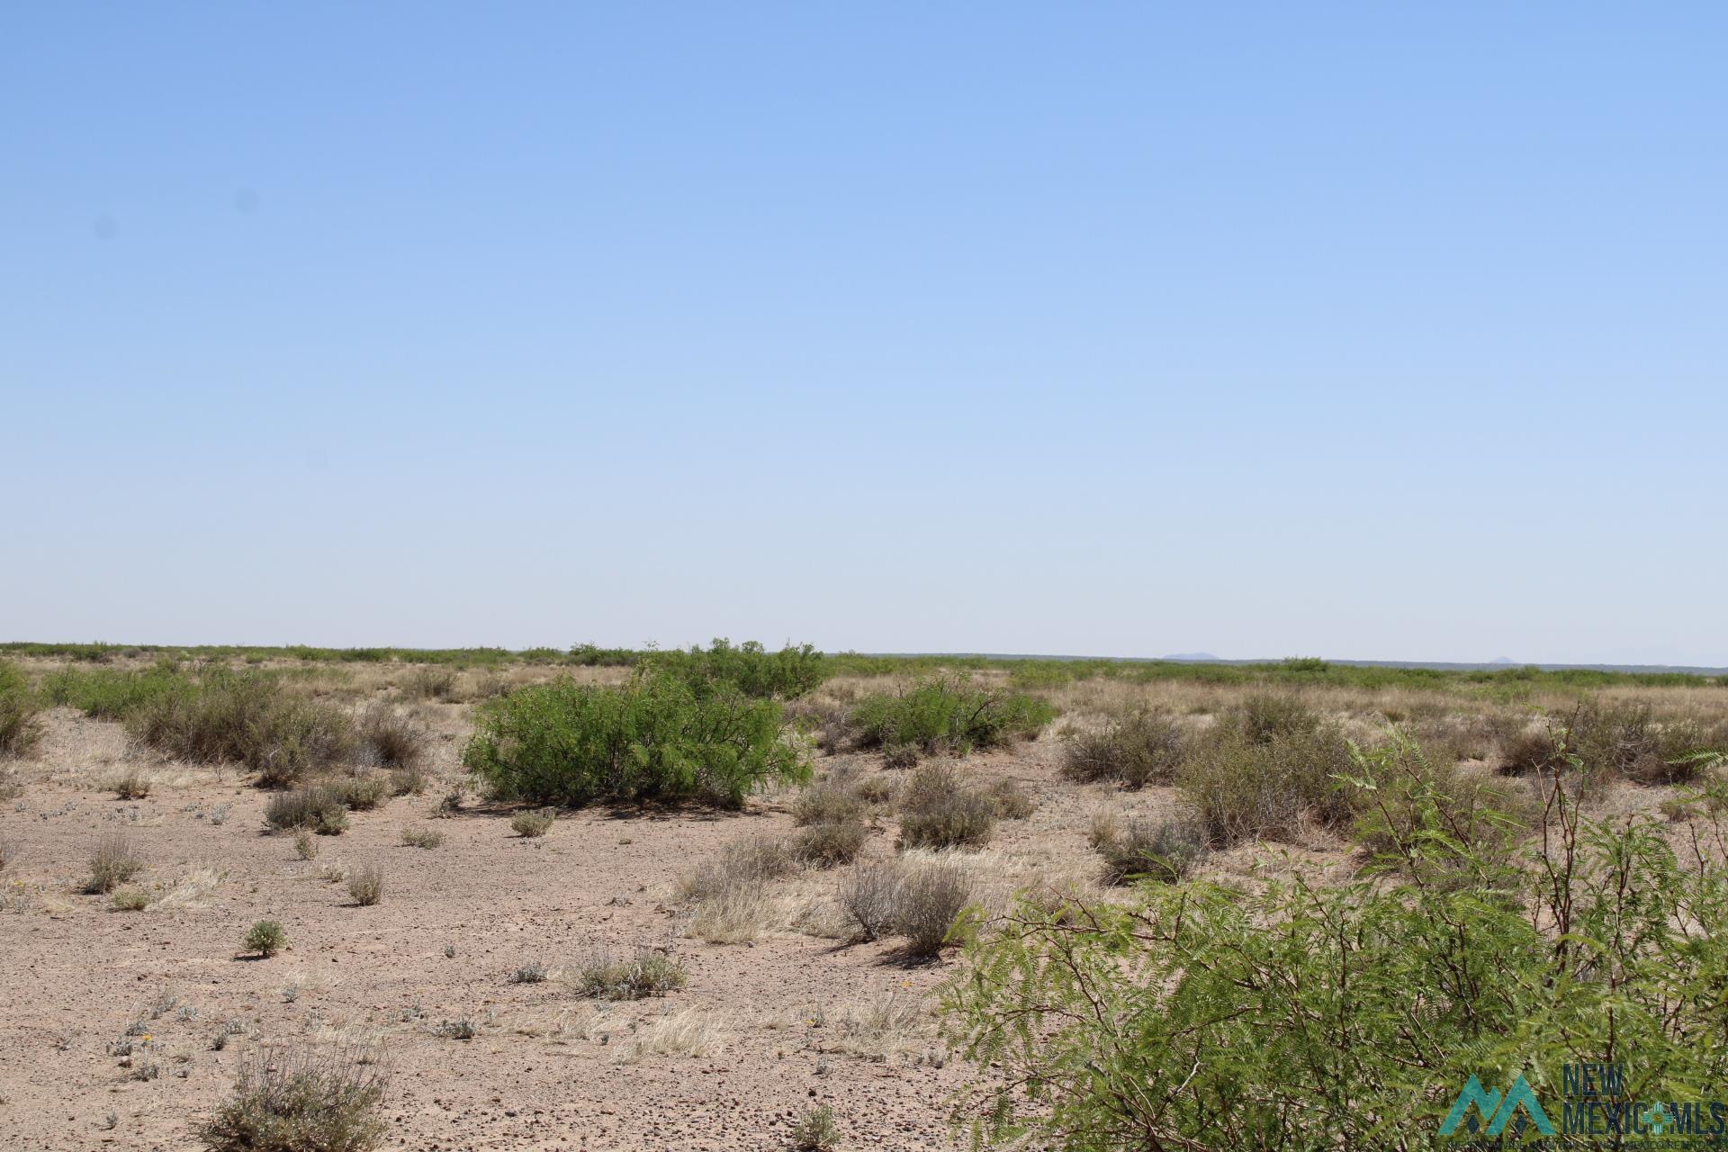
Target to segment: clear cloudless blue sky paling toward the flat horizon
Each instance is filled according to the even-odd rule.
[[[0,634],[1728,663],[1725,55],[7,5]]]

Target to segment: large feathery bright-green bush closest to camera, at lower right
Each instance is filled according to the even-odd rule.
[[[1394,872],[1343,886],[1023,902],[945,991],[952,1040],[994,1069],[961,1119],[1063,1152],[1331,1152],[1431,1147],[1469,1076],[1555,1098],[1562,1064],[1624,1062],[1630,1098],[1719,1095],[1721,834],[1687,867],[1654,822],[1550,808],[1528,867],[1431,810],[1389,822]]]

